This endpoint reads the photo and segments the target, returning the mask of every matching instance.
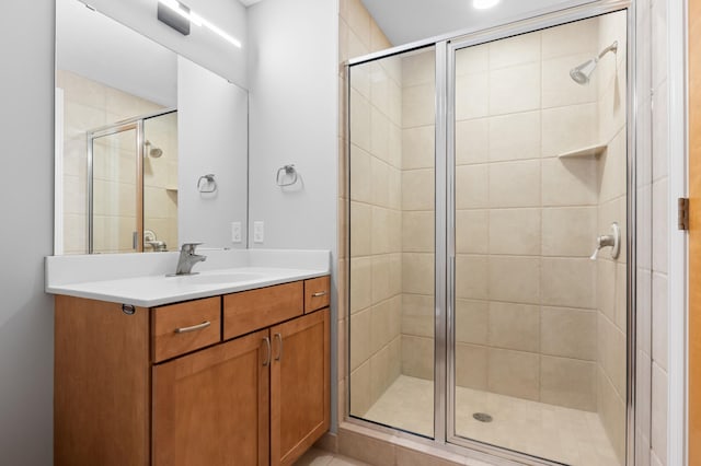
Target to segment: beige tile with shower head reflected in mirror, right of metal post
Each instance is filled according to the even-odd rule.
[[[177,114],[147,119],[143,132],[151,142],[143,154],[143,228],[165,242],[168,251],[177,251]],[[151,156],[153,148],[162,154]],[[145,251],[153,249],[145,245]]]

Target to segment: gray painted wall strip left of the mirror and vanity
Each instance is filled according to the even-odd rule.
[[[2,2],[0,57],[0,463],[50,465],[54,1]]]

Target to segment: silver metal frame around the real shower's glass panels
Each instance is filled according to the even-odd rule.
[[[371,427],[378,431],[412,439],[446,451],[468,453],[472,457],[490,459],[496,464],[558,465],[547,459],[513,452],[455,433],[455,54],[458,49],[485,44],[510,36],[563,25],[617,11],[627,11],[627,226],[628,226],[628,343],[627,343],[627,466],[635,464],[635,279],[636,279],[636,170],[635,170],[635,0],[572,1],[561,10],[536,16],[517,18],[507,24],[463,34],[446,34],[388,50],[372,53],[346,62],[346,251],[350,246],[350,68],[381,58],[398,56],[430,46],[436,56],[436,141],[435,141],[435,372],[434,372],[434,438],[433,440],[349,416],[350,406],[350,325],[346,326],[346,421]],[[350,260],[346,260],[347,289],[350,287]],[[350,293],[346,293],[347,318],[350,317]],[[348,321],[349,322],[349,321]]]

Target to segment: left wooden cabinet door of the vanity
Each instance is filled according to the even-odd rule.
[[[153,368],[153,465],[268,464],[268,342],[262,330]]]

